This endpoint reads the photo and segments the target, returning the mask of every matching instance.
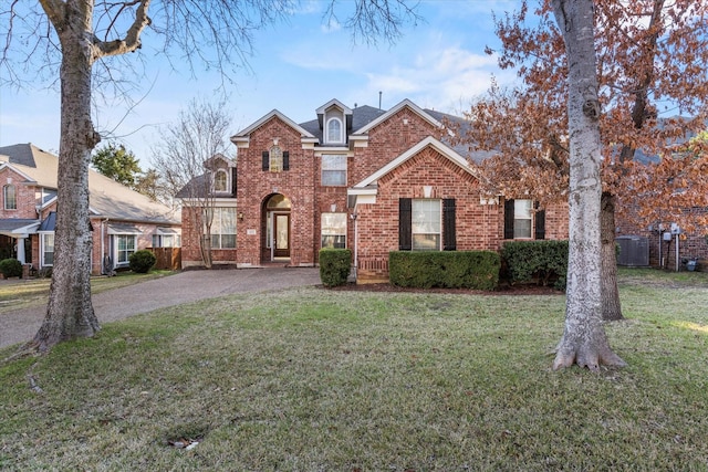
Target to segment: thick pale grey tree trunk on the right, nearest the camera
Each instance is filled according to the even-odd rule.
[[[565,329],[553,369],[624,365],[602,324],[601,139],[592,0],[553,0],[569,65],[570,247]]]

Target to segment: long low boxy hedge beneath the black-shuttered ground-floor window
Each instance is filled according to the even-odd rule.
[[[492,251],[412,252],[388,254],[388,276],[397,286],[494,290],[499,254]]]

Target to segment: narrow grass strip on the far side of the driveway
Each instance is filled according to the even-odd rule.
[[[118,272],[114,277],[96,276],[91,279],[91,292],[93,294],[107,292],[174,273],[173,271],[150,271],[147,274]],[[45,305],[49,300],[50,283],[51,279],[31,279],[0,284],[0,315],[30,306]]]

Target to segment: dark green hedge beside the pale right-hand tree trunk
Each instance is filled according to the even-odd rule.
[[[537,281],[565,290],[568,241],[509,241],[501,250],[510,284]]]

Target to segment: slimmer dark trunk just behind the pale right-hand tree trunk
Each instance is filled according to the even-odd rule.
[[[615,247],[615,197],[602,193],[600,232],[602,238],[602,319],[614,322],[623,319],[617,287],[617,251]]]

